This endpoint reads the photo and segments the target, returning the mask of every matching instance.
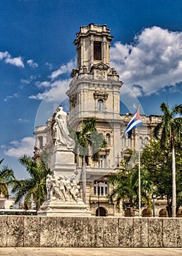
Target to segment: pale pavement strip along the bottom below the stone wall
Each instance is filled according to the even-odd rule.
[[[180,256],[182,248],[0,248],[0,256]]]

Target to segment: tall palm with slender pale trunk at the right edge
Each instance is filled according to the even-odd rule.
[[[176,184],[175,184],[175,143],[181,143],[182,137],[182,105],[175,106],[170,111],[168,105],[164,102],[160,106],[164,113],[162,121],[153,129],[153,135],[156,139],[160,138],[162,148],[171,149],[172,153],[172,217],[176,214]]]

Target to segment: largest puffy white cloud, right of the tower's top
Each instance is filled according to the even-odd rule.
[[[182,32],[156,26],[144,29],[134,37],[133,45],[115,42],[110,59],[137,97],[175,86],[182,81]]]

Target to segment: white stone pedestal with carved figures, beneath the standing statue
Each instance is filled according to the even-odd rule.
[[[88,217],[91,212],[80,197],[80,173],[75,155],[66,147],[55,148],[47,177],[48,198],[38,211],[39,216]]]

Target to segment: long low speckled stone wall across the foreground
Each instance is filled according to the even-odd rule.
[[[0,216],[1,247],[182,247],[182,219]]]

